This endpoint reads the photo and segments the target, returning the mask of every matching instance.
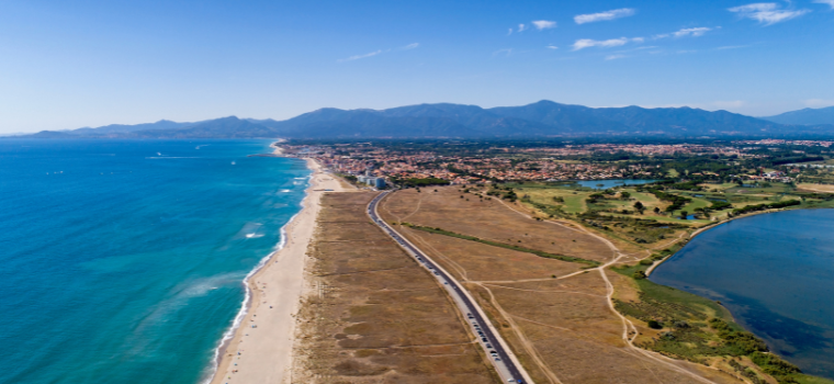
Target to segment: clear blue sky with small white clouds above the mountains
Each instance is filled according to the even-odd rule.
[[[0,133],[453,102],[834,105],[834,0],[2,1]]]

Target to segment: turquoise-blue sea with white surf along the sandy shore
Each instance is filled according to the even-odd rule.
[[[0,139],[0,383],[199,383],[300,211],[267,140]]]

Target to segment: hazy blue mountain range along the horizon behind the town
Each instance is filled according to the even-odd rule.
[[[826,118],[825,116],[831,116]],[[810,123],[809,123],[810,122]],[[159,121],[75,131],[43,138],[521,138],[578,136],[796,136],[834,135],[834,108],[756,118],[691,108],[588,108],[539,101],[483,109],[451,103],[387,110],[320,109],[284,121],[236,116],[196,123]],[[21,136],[18,136],[21,137]]]

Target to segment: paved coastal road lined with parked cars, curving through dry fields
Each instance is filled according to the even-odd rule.
[[[382,199],[388,193],[391,192],[380,193],[370,204],[368,204],[368,215],[371,219],[380,226],[384,233],[394,238],[394,240],[405,249],[406,253],[417,260],[420,266],[428,269],[429,272],[438,279],[447,292],[449,292],[449,295],[451,295],[455,305],[458,305],[458,308],[464,314],[464,317],[466,317],[466,323],[472,328],[473,334],[477,335],[478,345],[484,349],[486,355],[504,382],[532,383],[530,376],[523,368],[521,368],[521,364],[519,364],[518,359],[512,354],[506,341],[504,341],[498,331],[493,327],[492,323],[486,320],[486,315],[483,309],[475,304],[475,301],[470,296],[469,292],[466,292],[451,274],[428,258],[426,253],[420,251],[419,248],[415,247],[380,217],[376,207],[380,201],[382,201]]]

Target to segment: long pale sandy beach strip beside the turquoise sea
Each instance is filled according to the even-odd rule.
[[[304,291],[304,264],[316,228],[323,190],[343,191],[335,177],[313,170],[304,207],[286,226],[284,247],[272,255],[249,280],[249,308],[222,350],[212,384],[289,383],[295,332],[295,314]]]

